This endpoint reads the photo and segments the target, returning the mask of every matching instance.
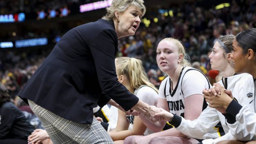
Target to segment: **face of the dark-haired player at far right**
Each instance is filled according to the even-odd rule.
[[[236,73],[245,73],[246,70],[246,54],[243,53],[243,49],[238,45],[237,40],[233,42],[232,56],[234,59],[234,69]]]

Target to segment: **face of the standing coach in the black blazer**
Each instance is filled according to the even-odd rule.
[[[118,36],[134,35],[140,25],[142,12],[136,6],[129,6],[122,14],[118,15]]]

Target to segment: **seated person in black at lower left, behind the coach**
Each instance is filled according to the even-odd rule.
[[[27,144],[33,130],[25,115],[10,102],[8,90],[0,84],[0,143]]]

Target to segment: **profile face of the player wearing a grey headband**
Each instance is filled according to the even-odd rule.
[[[212,52],[209,55],[211,68],[219,71],[223,71],[229,64],[225,58],[224,51],[221,48],[219,42],[215,42]]]

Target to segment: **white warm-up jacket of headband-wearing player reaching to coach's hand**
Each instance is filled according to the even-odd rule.
[[[245,81],[247,82],[245,83]],[[218,83],[224,86],[225,89],[231,90],[232,93],[236,93],[237,97],[235,97],[234,99],[236,99],[239,103],[246,103],[246,104],[251,103],[250,98],[248,99],[247,97],[243,96],[243,95],[247,95],[248,93],[246,88],[251,88],[251,85],[253,85],[251,75],[239,74],[239,75],[223,78]],[[244,90],[241,90],[241,89],[244,89]],[[254,104],[251,104],[251,106],[254,108],[253,105]],[[175,120],[172,121],[171,124],[173,122],[175,123]],[[193,138],[199,138],[205,135],[206,133],[209,133],[209,131],[211,131],[211,128],[214,127],[218,122],[221,122],[221,125],[226,134],[220,138],[206,139],[206,140],[203,140],[202,142],[205,144],[214,144],[221,140],[235,139],[232,136],[229,130],[229,127],[226,124],[224,115],[221,114],[216,109],[211,108],[209,106],[205,110],[203,110],[203,112],[200,114],[200,116],[197,119],[193,121],[185,120],[184,118],[181,118],[179,123],[176,122],[177,124],[176,129],[181,131],[187,136],[190,136]],[[215,130],[218,130],[218,129],[215,128]]]

